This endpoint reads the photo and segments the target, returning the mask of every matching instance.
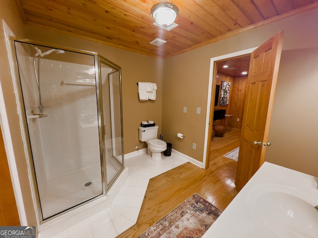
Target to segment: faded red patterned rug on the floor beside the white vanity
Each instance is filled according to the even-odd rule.
[[[221,213],[194,193],[138,238],[201,238]]]

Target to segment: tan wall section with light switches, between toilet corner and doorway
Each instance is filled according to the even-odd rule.
[[[191,55],[191,56],[190,56]],[[162,135],[172,148],[202,162],[209,60],[193,51],[164,61]],[[187,113],[183,113],[187,107]],[[196,114],[196,108],[201,114]],[[186,134],[178,138],[178,132]],[[196,143],[196,150],[192,149]]]

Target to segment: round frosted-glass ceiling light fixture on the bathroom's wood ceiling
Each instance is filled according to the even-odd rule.
[[[150,13],[159,25],[167,27],[174,22],[179,8],[173,3],[173,0],[156,0]]]

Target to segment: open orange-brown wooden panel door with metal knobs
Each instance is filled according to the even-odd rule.
[[[279,32],[251,54],[235,181],[238,190],[264,163],[282,45],[283,32]]]

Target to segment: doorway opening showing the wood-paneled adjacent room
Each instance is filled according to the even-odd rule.
[[[217,72],[213,82],[216,90],[212,92],[215,136],[212,136],[211,141],[210,163],[214,160],[216,148],[223,151],[223,155],[233,151],[225,157],[238,160],[237,148],[242,128],[249,62],[250,54],[216,62]],[[224,85],[227,85],[228,94],[224,93]]]

